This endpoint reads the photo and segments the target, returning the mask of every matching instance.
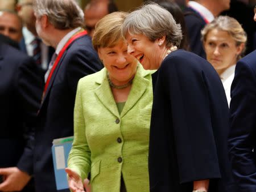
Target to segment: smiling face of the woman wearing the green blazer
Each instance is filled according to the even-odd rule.
[[[127,44],[123,40],[109,48],[98,48],[98,56],[109,72],[110,80],[117,86],[122,86],[133,79],[138,61],[127,54]]]

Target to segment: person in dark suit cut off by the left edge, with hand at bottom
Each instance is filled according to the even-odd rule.
[[[0,177],[4,180],[0,191],[32,192],[32,169],[27,162],[43,92],[43,74],[32,58],[3,41],[11,40],[1,36],[0,42]]]

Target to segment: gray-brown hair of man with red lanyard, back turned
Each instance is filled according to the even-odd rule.
[[[34,11],[39,18],[47,15],[57,29],[72,29],[84,24],[84,12],[75,0],[35,0]]]

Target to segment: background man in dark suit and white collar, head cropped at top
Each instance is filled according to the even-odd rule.
[[[229,9],[230,0],[195,0],[189,1],[184,10],[190,50],[198,56],[206,58],[201,42],[201,29],[212,22],[214,17]]]

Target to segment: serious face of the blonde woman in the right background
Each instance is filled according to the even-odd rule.
[[[212,29],[204,41],[207,61],[221,74],[228,67],[236,64],[237,56],[241,54],[243,44],[236,45],[236,41],[226,31]]]

